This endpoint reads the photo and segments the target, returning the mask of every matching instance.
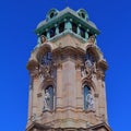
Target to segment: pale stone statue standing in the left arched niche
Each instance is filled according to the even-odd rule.
[[[50,94],[48,90],[46,90],[44,97],[44,110],[50,110]]]

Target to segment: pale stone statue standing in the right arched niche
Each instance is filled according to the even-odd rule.
[[[91,91],[88,91],[86,95],[86,104],[87,104],[87,109],[94,109],[94,97]]]

